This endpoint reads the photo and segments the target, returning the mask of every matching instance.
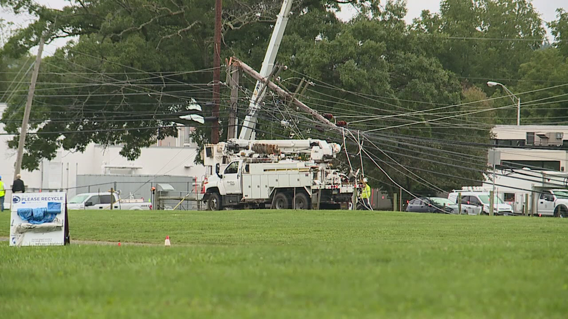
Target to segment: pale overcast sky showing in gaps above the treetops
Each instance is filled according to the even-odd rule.
[[[68,4],[69,0],[35,0],[35,2],[53,9],[60,9]],[[384,3],[386,0],[382,0],[381,2]],[[533,0],[533,5],[536,10],[540,12],[542,19],[546,22],[556,19],[557,8],[563,7],[568,10],[568,2],[566,0]],[[411,23],[412,19],[420,16],[420,12],[422,12],[422,10],[430,10],[431,12],[437,12],[440,10],[440,0],[407,0],[407,8],[408,14],[406,15],[406,20],[408,23]],[[349,16],[352,16],[354,13],[356,13],[356,11],[352,6],[345,5],[339,16],[342,19],[348,19]],[[20,27],[24,27],[32,21],[32,18],[28,15],[16,16],[11,12],[11,10],[7,10],[5,8],[0,8],[0,19],[14,22],[16,26]],[[552,40],[552,38],[550,38],[550,32],[549,39]],[[58,39],[54,43],[45,45],[44,54],[48,56],[52,55],[56,48],[65,44],[65,41],[65,39]],[[31,51],[35,52],[36,50],[36,48],[32,48]]]

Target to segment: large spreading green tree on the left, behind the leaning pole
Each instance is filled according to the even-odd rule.
[[[327,17],[328,23],[337,22],[329,20],[328,12],[337,6],[335,1],[296,3],[294,19],[310,19],[316,15],[312,12],[323,12],[320,16]],[[122,144],[121,154],[136,158],[140,148],[156,137],[176,134],[171,126],[179,122],[177,115],[186,111],[191,100],[211,99],[211,1],[89,0],[62,10],[28,0],[1,0],[0,4],[38,18],[10,38],[5,56],[27,52],[42,33],[47,42],[78,36],[42,65],[30,120],[30,128],[38,135],[27,137],[26,169],[36,169],[41,158],[52,158],[60,147],[82,151],[90,142]],[[225,1],[223,52],[260,65],[271,32],[267,26],[274,23],[280,6],[277,0]],[[314,28],[300,31],[297,37],[313,39]],[[23,99],[16,96],[9,101],[3,117],[12,119],[5,121],[8,132],[18,132],[14,119],[22,117],[18,106]],[[16,136],[10,146],[15,147],[17,140]]]

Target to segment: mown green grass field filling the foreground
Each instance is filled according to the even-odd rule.
[[[86,211],[69,222],[70,246],[0,242],[0,317],[568,316],[565,219]],[[7,237],[6,211],[0,225]]]

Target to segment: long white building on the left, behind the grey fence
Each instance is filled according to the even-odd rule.
[[[6,104],[0,103],[0,117],[5,108]],[[205,168],[194,164],[198,149],[189,139],[189,129],[179,128],[177,138],[156,141],[153,146],[142,149],[140,157],[134,161],[120,156],[121,146],[90,144],[83,153],[60,149],[55,158],[42,161],[37,170],[22,170],[22,180],[30,190],[70,188],[69,196],[75,194],[77,175],[82,174],[178,175],[201,181]],[[0,124],[0,133],[6,133],[3,124]],[[16,150],[7,145],[12,137],[0,135],[0,176],[6,188],[11,188],[14,178]],[[7,192],[6,198],[10,196],[11,192]]]

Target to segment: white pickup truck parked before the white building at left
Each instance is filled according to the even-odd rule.
[[[82,193],[75,195],[67,202],[68,209],[110,209],[111,196],[112,209],[126,209],[131,211],[149,211],[152,203],[143,199],[120,199],[120,195],[110,192]]]

